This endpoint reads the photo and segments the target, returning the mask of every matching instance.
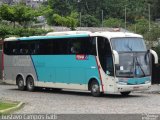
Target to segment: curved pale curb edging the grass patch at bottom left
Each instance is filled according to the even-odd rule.
[[[5,109],[5,110],[0,110],[0,115],[1,114],[7,114],[7,113],[10,113],[12,111],[15,111],[15,110],[18,110],[20,109],[22,106],[24,105],[23,102],[20,102],[17,106],[15,107],[11,107],[11,108],[8,108],[8,109]]]

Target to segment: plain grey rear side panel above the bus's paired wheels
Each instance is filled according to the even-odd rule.
[[[31,57],[28,55],[4,55],[4,79],[8,83],[16,83],[17,75],[22,75],[26,79],[28,75],[32,75],[34,80],[37,80],[34,64]]]

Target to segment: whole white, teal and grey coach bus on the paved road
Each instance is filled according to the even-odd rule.
[[[4,41],[4,81],[35,87],[121,93],[151,87],[151,54],[143,37],[124,32],[68,31]]]

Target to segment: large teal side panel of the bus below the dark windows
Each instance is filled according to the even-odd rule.
[[[88,85],[91,78],[99,78],[94,56],[78,60],[76,55],[34,55],[32,59],[40,82],[67,83],[69,88],[69,84]]]

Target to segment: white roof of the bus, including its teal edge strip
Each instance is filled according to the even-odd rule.
[[[50,32],[46,36],[30,36],[30,37],[10,37],[6,38],[4,41],[16,41],[16,40],[46,40],[46,39],[57,39],[57,38],[75,38],[75,37],[89,37],[89,36],[102,36],[108,39],[117,37],[140,37],[139,34],[128,33],[128,32],[95,32],[90,31],[65,31],[65,32]]]

